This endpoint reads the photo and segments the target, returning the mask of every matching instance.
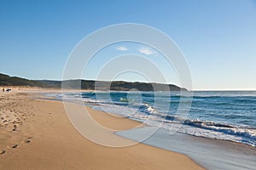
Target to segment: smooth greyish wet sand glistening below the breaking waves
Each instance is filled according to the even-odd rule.
[[[150,126],[145,125],[144,127],[147,128]],[[121,137],[124,137],[125,139],[140,141],[139,139],[137,139],[137,137],[129,134],[129,131],[133,131],[133,133],[136,133],[137,136],[145,135],[145,132],[136,132],[141,130],[143,131],[143,127],[141,127],[140,129],[136,128],[127,131],[117,131],[114,133]],[[208,139],[206,137],[193,136],[186,133],[177,133],[177,136],[175,136],[175,138],[177,139],[170,138],[170,136],[165,135],[165,133],[163,132],[161,132],[160,134],[156,133],[155,135],[158,135],[158,138],[154,138],[153,135],[153,137],[150,137],[150,139],[154,140],[147,139],[146,141],[143,141],[143,144],[149,144],[160,149],[175,151],[177,153],[184,154],[185,156],[189,156],[193,161],[199,163],[201,166],[207,167],[209,169],[239,169],[237,167],[243,167],[244,169],[253,169],[253,167],[256,167],[256,162],[254,163],[253,161],[253,157],[256,156],[256,148],[250,144],[241,144],[232,140]],[[184,143],[183,139],[180,139],[180,136],[183,136],[183,139],[186,139],[187,143]],[[160,139],[166,139],[170,142],[174,141],[174,144],[176,144],[177,147],[170,147]],[[187,146],[183,147],[181,146],[181,144],[178,143],[182,143],[183,145]],[[201,146],[204,146],[203,150],[201,149]],[[209,150],[209,148],[211,148],[212,150]],[[202,155],[205,157],[202,157]],[[218,157],[218,159],[214,158],[214,156],[211,155]],[[225,157],[223,155],[232,156]],[[232,162],[232,165],[230,165],[230,162]]]

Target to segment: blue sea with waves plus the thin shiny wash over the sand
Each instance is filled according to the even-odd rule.
[[[207,169],[256,167],[255,91],[44,95],[143,122],[148,126],[115,133],[143,144],[177,151]],[[177,132],[173,133],[173,129]],[[148,138],[142,140],[144,136]]]

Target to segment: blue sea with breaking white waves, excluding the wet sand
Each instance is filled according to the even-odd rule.
[[[170,129],[182,122],[178,132],[209,139],[231,140],[256,146],[256,92],[88,92],[66,94],[83,99],[95,110]],[[178,105],[183,105],[177,113]],[[188,115],[186,115],[188,113]]]

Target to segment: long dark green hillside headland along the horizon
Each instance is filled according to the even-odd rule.
[[[140,91],[180,91],[186,90],[185,88],[179,88],[176,85],[160,83],[146,83],[146,82],[104,82],[104,81],[92,81],[92,80],[67,80],[65,82],[65,88],[76,88],[81,85],[82,89],[94,90],[95,85],[98,90],[115,90],[115,91],[127,91],[132,88]],[[81,83],[81,84],[79,84]],[[29,86],[38,88],[61,88],[61,81],[51,80],[28,80],[20,77],[9,77],[0,73],[0,86]],[[168,88],[169,87],[169,88]]]

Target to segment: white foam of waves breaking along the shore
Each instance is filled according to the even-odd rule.
[[[150,93],[144,94],[150,98]],[[177,94],[178,95],[178,94]],[[197,94],[196,97],[209,99],[218,97],[220,94]],[[226,96],[247,96],[248,94],[227,94]],[[104,99],[81,98],[79,94],[47,94],[49,97],[62,98],[67,100],[84,102],[85,105],[90,105],[95,110],[106,111],[117,114],[119,116],[129,117],[133,120],[144,122],[150,126],[160,126],[165,129],[170,129],[172,123],[183,122],[183,126],[179,129],[180,133],[187,133],[194,136],[205,137],[209,139],[223,139],[243,144],[250,144],[256,146],[256,128],[248,126],[237,126],[230,123],[201,121],[198,118],[184,119],[175,115],[166,115],[166,113],[157,111],[152,104],[149,103],[135,103],[124,101],[108,101]],[[163,95],[166,98],[166,95]],[[118,98],[121,99],[120,97]],[[125,99],[125,98],[124,98]],[[168,98],[166,98],[167,100]],[[221,98],[220,98],[221,99]],[[240,99],[240,98],[236,98]],[[172,100],[171,100],[172,102]],[[217,105],[217,104],[216,104]],[[238,104],[236,104],[238,105]],[[195,111],[199,110],[199,111]],[[202,108],[192,108],[192,111],[201,113]],[[229,116],[232,116],[229,114]],[[162,123],[161,123],[162,122]]]

